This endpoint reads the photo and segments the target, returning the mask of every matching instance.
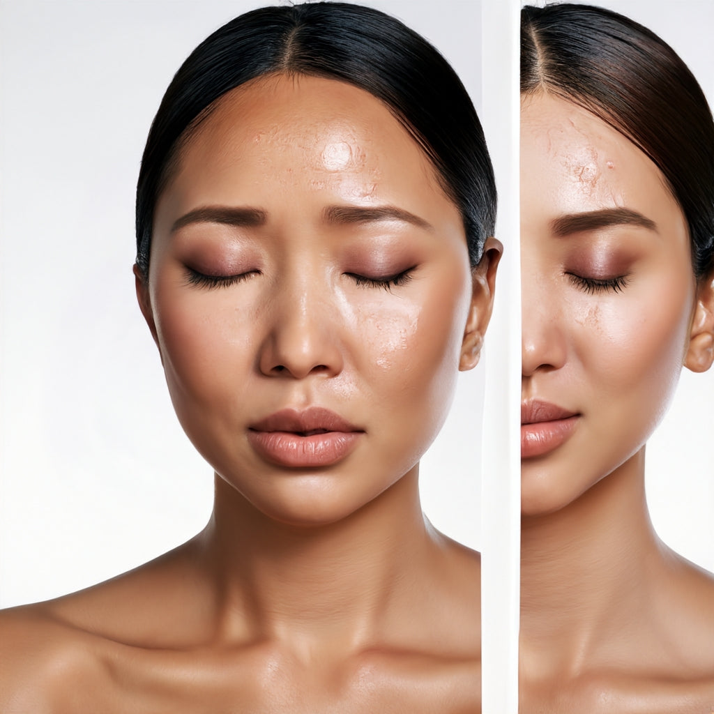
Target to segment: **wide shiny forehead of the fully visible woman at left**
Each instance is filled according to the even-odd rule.
[[[431,162],[391,111],[356,86],[304,75],[259,78],[223,96],[181,151],[175,182],[221,174],[321,188],[353,182],[361,198],[385,186],[439,190]],[[327,185],[327,184],[325,184]]]

